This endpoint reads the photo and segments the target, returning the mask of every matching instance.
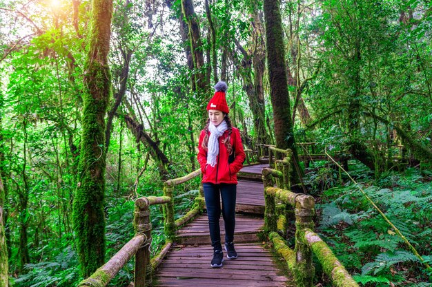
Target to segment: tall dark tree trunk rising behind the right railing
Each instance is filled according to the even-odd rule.
[[[268,78],[271,87],[270,94],[276,145],[279,149],[291,149],[295,162],[298,162],[288,98],[284,37],[279,0],[264,0],[264,17],[266,19]],[[291,178],[293,184],[299,182],[297,173],[292,172]]]

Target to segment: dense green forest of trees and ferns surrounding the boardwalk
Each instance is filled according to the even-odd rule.
[[[0,286],[76,286],[117,252],[134,200],[199,167],[221,80],[245,148],[349,158],[356,183],[291,176],[361,286],[432,286],[431,31],[425,0],[0,0]]]

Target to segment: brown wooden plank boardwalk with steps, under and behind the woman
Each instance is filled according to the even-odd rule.
[[[268,164],[245,167],[244,173],[261,173]],[[264,186],[262,182],[239,180],[236,215],[235,248],[239,257],[227,259],[224,266],[211,268],[213,248],[210,246],[207,215],[204,213],[177,231],[177,246],[172,248],[157,269],[153,286],[295,286],[275,263],[271,251],[259,242],[257,233],[264,225]],[[251,214],[254,213],[254,214]],[[224,243],[224,221],[221,216],[221,240]]]

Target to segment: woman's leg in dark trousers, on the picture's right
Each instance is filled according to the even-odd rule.
[[[225,242],[234,241],[235,230],[235,200],[237,184],[220,184],[222,196],[222,215],[225,224]]]

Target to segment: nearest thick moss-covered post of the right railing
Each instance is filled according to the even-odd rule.
[[[300,198],[297,196],[300,195]],[[306,228],[313,230],[312,217],[315,213],[315,200],[312,196],[297,193],[295,204],[295,268],[297,287],[313,286],[315,268],[312,262],[312,249],[304,240]]]

